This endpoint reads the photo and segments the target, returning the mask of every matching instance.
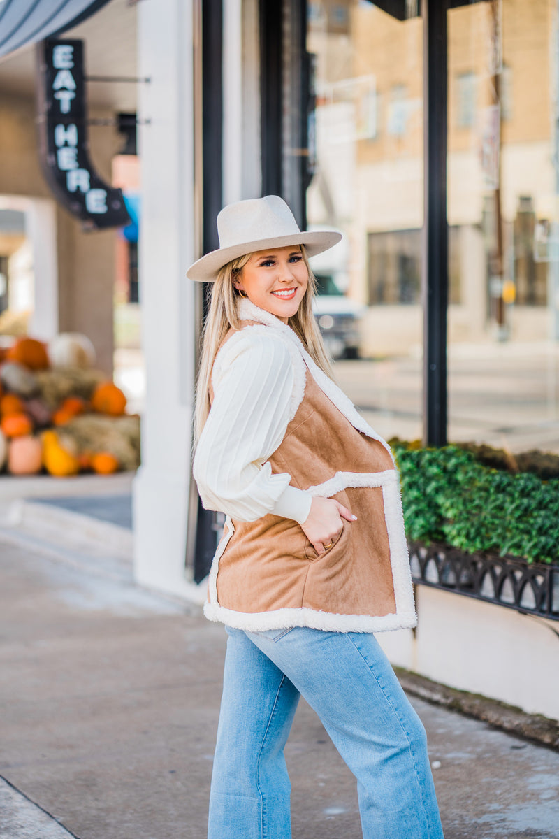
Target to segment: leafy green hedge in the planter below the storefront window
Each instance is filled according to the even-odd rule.
[[[458,446],[392,447],[409,539],[559,563],[559,479],[490,468]]]

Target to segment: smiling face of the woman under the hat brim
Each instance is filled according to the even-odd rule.
[[[298,245],[256,251],[234,281],[251,303],[287,323],[308,286],[308,270]]]

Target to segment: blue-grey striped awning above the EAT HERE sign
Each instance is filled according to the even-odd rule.
[[[0,0],[0,56],[81,23],[109,0]]]

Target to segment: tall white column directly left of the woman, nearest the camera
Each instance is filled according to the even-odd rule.
[[[185,571],[194,400],[193,8],[139,3],[142,221],[139,276],[147,399],[133,488],[134,572],[144,586],[190,597]]]

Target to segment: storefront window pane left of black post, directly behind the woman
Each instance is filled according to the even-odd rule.
[[[407,3],[410,13],[416,5]],[[338,359],[339,383],[370,424],[388,437],[415,438],[422,429],[422,21],[396,20],[363,0],[309,0],[307,50],[316,96],[308,225],[344,232],[344,242],[313,263],[322,278],[318,322]]]

